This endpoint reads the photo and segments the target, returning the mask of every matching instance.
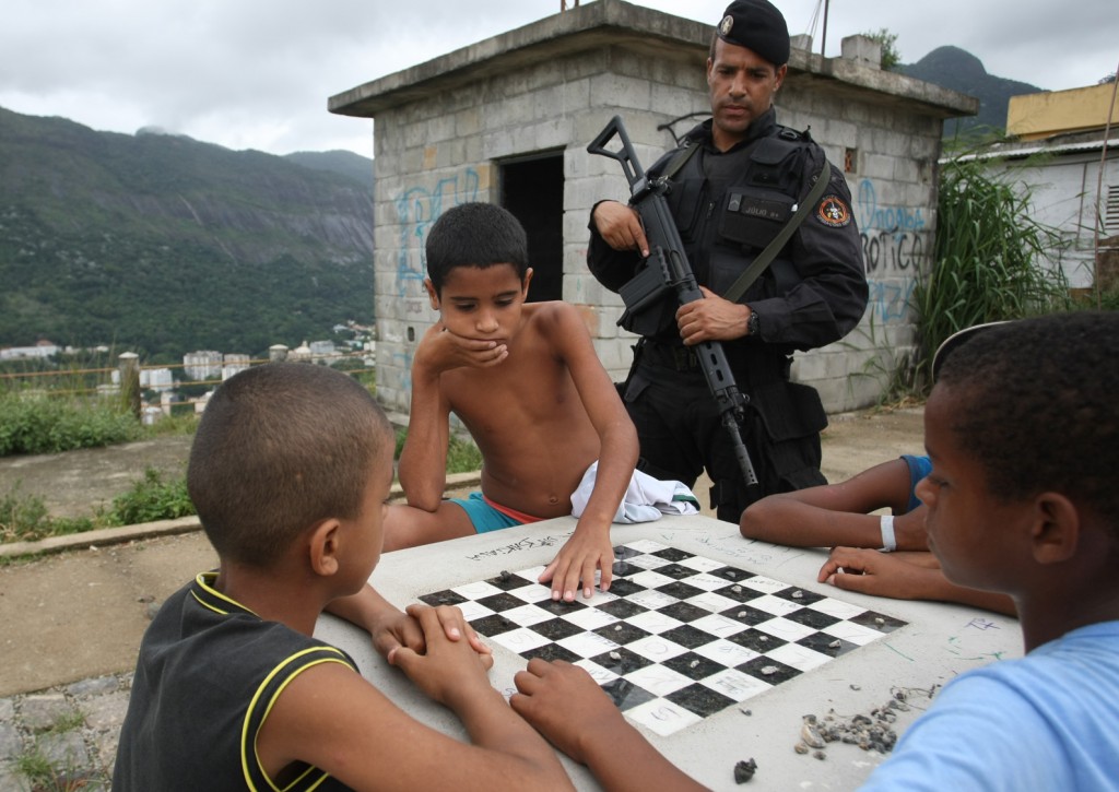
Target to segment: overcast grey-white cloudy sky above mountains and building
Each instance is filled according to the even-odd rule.
[[[727,1],[637,4],[714,25]],[[775,4],[818,50],[822,0]],[[372,157],[372,122],[328,113],[327,97],[558,10],[560,0],[4,0],[0,106],[231,149]],[[1094,85],[1119,64],[1116,0],[830,0],[827,28],[829,57],[844,36],[886,28],[904,63],[955,45],[990,74],[1051,91]]]

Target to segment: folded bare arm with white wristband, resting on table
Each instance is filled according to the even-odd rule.
[[[881,547],[881,520],[867,512],[888,508],[900,515],[897,548],[928,549],[923,510],[903,513],[909,498],[909,465],[895,459],[837,484],[762,498],[742,512],[739,530],[747,539],[792,547]]]

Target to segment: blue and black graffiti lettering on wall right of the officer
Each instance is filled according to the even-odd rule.
[[[874,182],[863,179],[855,219],[871,287],[868,311],[876,322],[903,321],[918,273],[932,251],[924,208],[881,206]]]

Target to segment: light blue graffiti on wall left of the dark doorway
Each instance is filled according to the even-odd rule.
[[[461,173],[440,179],[434,187],[410,187],[394,199],[399,225],[399,241],[396,248],[396,294],[410,296],[408,284],[414,283],[412,295],[422,294],[423,247],[431,224],[443,214],[444,207],[478,200],[480,178],[473,168],[464,168]],[[410,307],[411,310],[411,307]]]

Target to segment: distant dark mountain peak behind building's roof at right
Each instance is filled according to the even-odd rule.
[[[946,138],[977,128],[1005,130],[1010,97],[1042,91],[1036,85],[987,74],[979,58],[959,47],[938,47],[915,64],[902,65],[895,70],[979,100],[978,115],[944,122]]]

